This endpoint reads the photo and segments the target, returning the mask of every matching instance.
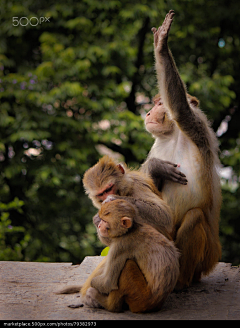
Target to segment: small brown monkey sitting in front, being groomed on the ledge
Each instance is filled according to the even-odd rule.
[[[174,243],[146,223],[139,223],[135,206],[123,199],[104,202],[98,235],[110,249],[102,271],[88,288],[84,304],[120,312],[160,310],[179,275]]]

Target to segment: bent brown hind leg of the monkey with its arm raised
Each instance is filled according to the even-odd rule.
[[[201,264],[206,254],[207,235],[205,216],[200,208],[188,211],[177,231],[175,245],[180,250],[180,275],[176,289],[189,286],[195,277],[201,277]]]

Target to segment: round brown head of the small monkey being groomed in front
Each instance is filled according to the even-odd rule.
[[[125,200],[117,199],[104,203],[98,212],[101,221],[98,224],[99,238],[117,238],[132,227],[136,209]]]

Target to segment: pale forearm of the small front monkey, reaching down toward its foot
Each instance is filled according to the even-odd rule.
[[[126,252],[123,250],[125,245],[122,243],[123,247],[114,246],[110,247],[103,273],[91,281],[91,286],[101,294],[109,294],[112,290],[118,289],[118,280],[127,260]]]

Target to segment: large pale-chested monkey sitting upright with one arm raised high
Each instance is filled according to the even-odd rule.
[[[176,288],[199,281],[221,256],[219,216],[220,179],[217,174],[218,143],[198,100],[187,94],[168,48],[168,33],[174,11],[170,10],[154,33],[154,52],[160,95],[147,113],[146,129],[155,143],[142,170],[159,185],[163,161],[181,163],[188,184],[160,184],[162,197],[174,214],[173,238],[181,252]]]

